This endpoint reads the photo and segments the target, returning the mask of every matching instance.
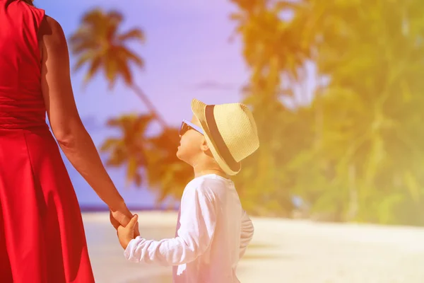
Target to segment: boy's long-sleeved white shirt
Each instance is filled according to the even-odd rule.
[[[175,238],[138,236],[124,255],[132,262],[174,265],[174,283],[239,283],[235,270],[253,231],[234,183],[203,175],[184,189]]]

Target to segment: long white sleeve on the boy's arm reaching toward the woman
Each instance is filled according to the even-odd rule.
[[[131,240],[124,251],[132,262],[182,265],[192,262],[210,245],[216,227],[216,208],[213,195],[203,184],[184,191],[175,238],[160,241],[141,236]]]

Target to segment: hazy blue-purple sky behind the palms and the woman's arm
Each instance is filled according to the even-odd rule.
[[[241,89],[249,80],[249,69],[242,57],[240,37],[234,36],[235,22],[230,20],[230,13],[237,11],[237,7],[229,0],[35,0],[35,6],[55,18],[68,38],[78,28],[83,14],[96,7],[123,13],[122,30],[141,28],[146,42],[130,47],[143,58],[146,66],[143,70],[134,70],[134,81],[169,125],[177,127],[182,119],[192,117],[192,98],[208,104],[242,100]],[[71,54],[71,66],[75,62],[76,57]],[[308,68],[313,69],[313,66]],[[143,113],[146,107],[121,82],[112,90],[108,89],[102,73],[83,88],[85,71],[82,68],[72,74],[73,91],[83,123],[100,147],[107,137],[119,134],[105,127],[108,119]],[[310,93],[313,78],[305,86],[298,91]],[[300,100],[311,98],[308,94],[298,97],[302,97]],[[302,103],[299,98],[295,100]],[[293,105],[290,101],[284,100]],[[105,207],[63,157],[81,207]],[[102,154],[104,161],[105,158],[107,156]],[[125,168],[107,168],[107,171],[129,206],[153,206],[154,191],[125,186]]]

